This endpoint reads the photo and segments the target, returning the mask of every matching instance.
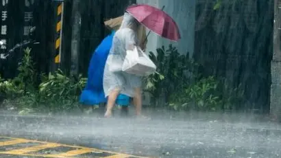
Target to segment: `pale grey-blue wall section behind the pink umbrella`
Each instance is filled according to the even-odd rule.
[[[181,54],[189,52],[191,55],[194,52],[194,37],[195,37],[195,0],[136,0],[136,3],[145,3],[156,8],[162,8],[165,5],[164,12],[167,12],[178,24],[182,39],[178,42],[171,42],[161,38],[151,32],[148,38],[147,51],[155,52],[156,48],[162,45],[173,44],[178,47]]]

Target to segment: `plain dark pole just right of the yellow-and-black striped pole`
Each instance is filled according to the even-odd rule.
[[[71,76],[79,74],[81,14],[80,0],[72,1]]]

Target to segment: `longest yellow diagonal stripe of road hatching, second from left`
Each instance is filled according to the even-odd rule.
[[[29,147],[29,148],[21,148],[21,149],[18,149],[18,150],[10,150],[8,152],[5,152],[5,153],[8,153],[8,154],[23,154],[23,153],[30,153],[30,152],[35,152],[35,151],[38,151],[38,150],[43,150],[43,149],[46,149],[46,148],[56,148],[60,146],[60,144],[44,144],[44,145],[41,145],[41,146],[32,146],[32,147]]]

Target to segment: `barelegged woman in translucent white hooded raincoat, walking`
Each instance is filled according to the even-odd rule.
[[[112,115],[112,108],[119,93],[134,98],[136,115],[141,115],[141,77],[127,74],[122,71],[122,66],[127,50],[133,50],[135,46],[140,46],[144,49],[143,41],[138,40],[139,30],[142,29],[144,29],[143,25],[140,25],[132,15],[125,12],[121,27],[114,34],[112,47],[103,73],[103,90],[106,97],[108,97],[105,117]]]

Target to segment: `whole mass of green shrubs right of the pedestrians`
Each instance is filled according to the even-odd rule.
[[[151,93],[152,106],[215,111],[232,110],[235,104],[243,102],[240,87],[230,87],[227,80],[215,76],[202,76],[201,65],[191,60],[189,54],[180,55],[172,45],[156,51],[157,56],[149,52],[149,57],[157,72],[145,78],[145,91]],[[158,100],[164,100],[164,104],[157,104]]]

